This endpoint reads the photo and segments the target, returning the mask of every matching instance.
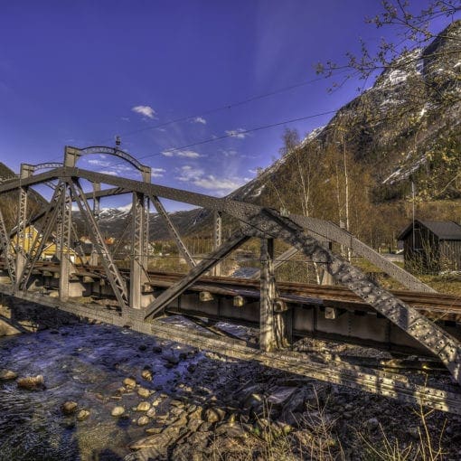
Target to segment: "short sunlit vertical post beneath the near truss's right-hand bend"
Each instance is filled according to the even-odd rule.
[[[274,303],[274,240],[261,239],[261,276],[259,298],[259,347],[266,352],[276,348]]]

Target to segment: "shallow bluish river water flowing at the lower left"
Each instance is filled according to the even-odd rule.
[[[183,360],[169,367],[165,354],[180,353]],[[132,419],[110,414],[122,404],[117,400],[122,381],[133,376],[149,390],[168,392],[201,356],[192,348],[157,343],[110,325],[62,326],[0,338],[0,369],[19,377],[42,374],[45,383],[44,390],[31,391],[19,389],[16,381],[0,381],[0,460],[123,459],[129,443],[145,432]],[[141,379],[145,367],[153,371],[153,381]],[[89,409],[89,418],[65,416],[61,405],[67,400]],[[130,408],[138,401],[133,392],[123,405]]]

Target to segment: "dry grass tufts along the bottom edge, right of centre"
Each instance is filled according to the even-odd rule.
[[[428,418],[434,410],[422,406],[415,410],[419,419],[417,437],[409,441],[391,437],[384,428],[372,436],[367,429],[354,430],[348,438],[348,454],[343,450],[339,435],[334,430],[336,421],[326,411],[326,403],[306,408],[298,428],[287,430],[277,421],[270,420],[270,408],[247,430],[246,437],[217,437],[212,443],[213,461],[442,461],[446,452],[442,446],[445,424],[431,432]],[[237,423],[236,423],[237,424]],[[403,431],[402,431],[403,434]],[[416,436],[416,435],[415,435]],[[353,452],[351,453],[351,447]],[[352,457],[351,457],[352,456]]]

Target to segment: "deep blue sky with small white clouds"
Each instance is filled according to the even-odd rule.
[[[390,33],[364,23],[378,0],[0,6],[0,161],[18,171],[61,161],[65,145],[114,146],[120,135],[124,150],[152,166],[153,182],[219,196],[278,156],[284,127],[304,136],[331,115],[241,131],[340,108],[358,82],[328,94],[331,82],[317,80],[229,106],[315,80],[317,61],[342,61],[359,37],[373,45]],[[107,157],[80,162],[136,177]]]

